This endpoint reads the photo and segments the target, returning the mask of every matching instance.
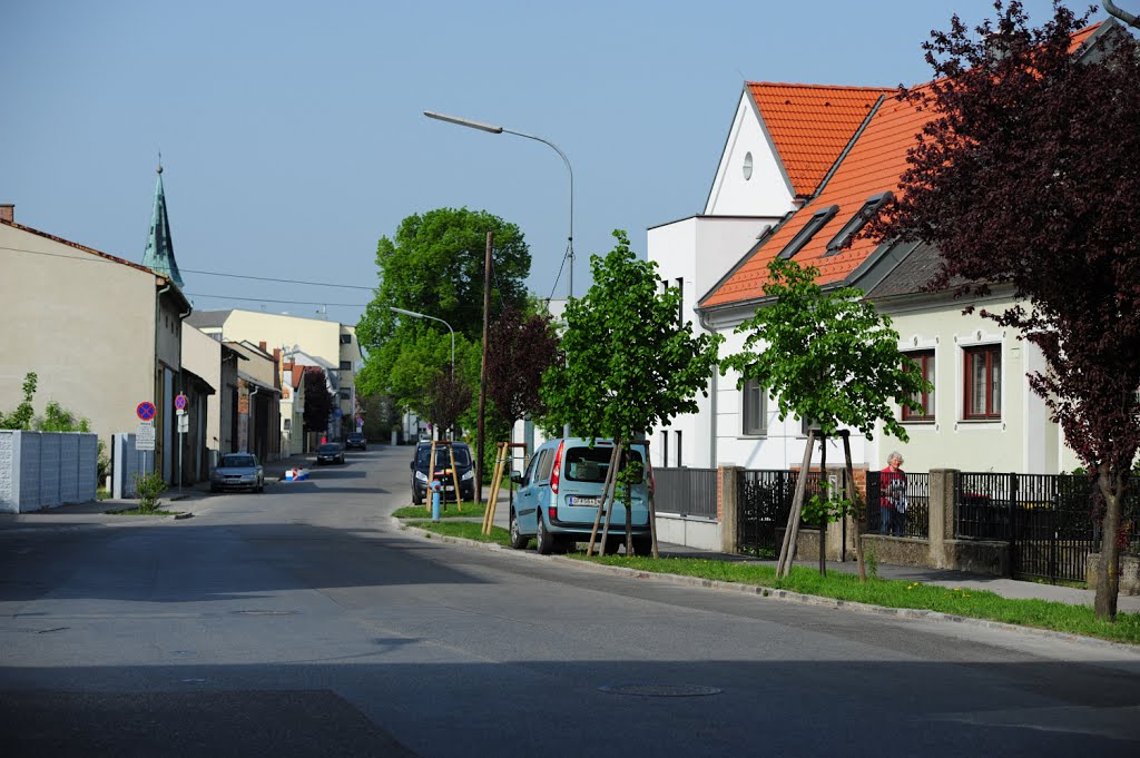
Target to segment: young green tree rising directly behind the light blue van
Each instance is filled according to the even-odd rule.
[[[540,396],[551,421],[569,423],[579,437],[612,438],[617,448],[697,411],[694,398],[708,392],[722,337],[692,336],[692,325],[677,318],[681,292],[660,292],[657,263],[637,260],[625,231],[613,236],[617,245],[605,258],[589,259],[593,286],[567,303],[565,360],[546,372]],[[630,488],[644,474],[627,465],[621,475],[630,555]]]

